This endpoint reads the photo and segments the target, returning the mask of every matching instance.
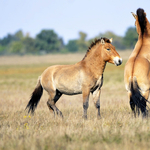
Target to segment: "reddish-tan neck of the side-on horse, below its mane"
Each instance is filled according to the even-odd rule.
[[[106,66],[106,62],[103,60],[100,50],[99,53],[97,53],[96,49],[91,49],[91,52],[82,60],[82,63],[97,77],[103,74]]]

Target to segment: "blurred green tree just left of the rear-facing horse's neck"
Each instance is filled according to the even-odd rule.
[[[129,27],[125,33],[123,40],[126,48],[133,49],[138,40],[138,34],[136,32],[136,28]]]

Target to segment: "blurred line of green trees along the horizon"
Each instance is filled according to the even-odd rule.
[[[0,39],[0,55],[85,52],[94,39],[101,37],[113,38],[112,44],[119,50],[133,49],[138,39],[135,27],[129,27],[124,37],[107,31],[87,39],[86,33],[79,32],[79,38],[69,40],[67,44],[64,44],[63,38],[54,30],[42,30],[35,38],[30,37],[28,33],[24,35],[22,30],[19,30]]]

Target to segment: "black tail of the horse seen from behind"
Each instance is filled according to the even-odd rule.
[[[145,116],[147,109],[146,109],[146,102],[147,100],[142,96],[140,92],[140,87],[137,83],[137,78],[134,76],[130,79],[130,89],[131,89],[131,98],[136,105],[137,108],[139,108],[142,112],[142,114]]]

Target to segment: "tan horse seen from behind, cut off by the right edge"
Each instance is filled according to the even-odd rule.
[[[124,82],[134,116],[141,113],[146,117],[150,90],[150,24],[143,9],[137,9],[132,15],[138,41],[125,65]]]

